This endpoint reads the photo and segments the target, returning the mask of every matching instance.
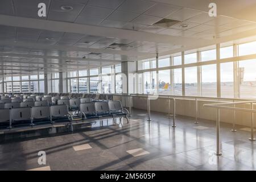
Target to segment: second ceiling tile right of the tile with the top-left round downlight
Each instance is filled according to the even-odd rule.
[[[120,22],[130,22],[137,16],[139,16],[139,14],[137,14],[137,13],[130,13],[127,11],[115,10],[114,13],[112,13],[107,19],[120,21]]]

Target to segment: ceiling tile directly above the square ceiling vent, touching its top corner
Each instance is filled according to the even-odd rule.
[[[159,16],[164,17],[167,15],[170,15],[171,13],[174,13],[174,11],[179,10],[180,7],[177,6],[171,6],[163,3],[157,3],[153,7],[151,7],[149,10],[147,10],[144,14],[151,15],[151,16]]]

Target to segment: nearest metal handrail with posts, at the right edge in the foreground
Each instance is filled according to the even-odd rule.
[[[254,138],[254,131],[253,131],[253,117],[254,113],[256,113],[256,110],[253,109],[253,104],[256,101],[243,101],[243,102],[229,102],[229,103],[217,103],[217,104],[204,104],[205,107],[213,107],[217,109],[217,119],[216,119],[216,138],[217,138],[217,149],[216,149],[216,155],[222,155],[220,151],[220,109],[229,109],[234,111],[246,111],[251,113],[251,138],[249,140],[255,141]],[[240,107],[235,107],[236,104],[250,104],[251,109],[245,109]],[[233,105],[233,107],[225,106],[225,105]]]

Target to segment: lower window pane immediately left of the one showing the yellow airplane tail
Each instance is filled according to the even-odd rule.
[[[156,72],[145,72],[144,76],[144,94],[156,93]]]

